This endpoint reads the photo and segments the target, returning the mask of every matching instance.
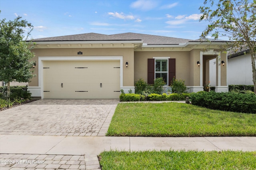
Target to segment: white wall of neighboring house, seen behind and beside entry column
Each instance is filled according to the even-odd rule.
[[[216,64],[214,62],[216,59],[210,61],[210,81],[211,86],[214,86],[216,83]],[[228,59],[227,66],[227,79],[228,85],[232,84],[244,84],[244,85],[253,85],[252,82],[252,61],[250,54],[240,55],[238,57],[233,57]]]

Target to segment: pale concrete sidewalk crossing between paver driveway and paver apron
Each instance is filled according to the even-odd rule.
[[[103,150],[256,150],[256,137],[0,135],[0,153],[98,155]]]

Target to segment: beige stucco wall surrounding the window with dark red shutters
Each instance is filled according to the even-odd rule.
[[[153,57],[170,57],[176,59],[176,79],[185,80],[190,86],[190,53],[189,51],[137,51],[134,52],[134,79],[148,81],[148,59]]]

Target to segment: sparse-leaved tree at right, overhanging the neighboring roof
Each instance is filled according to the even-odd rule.
[[[205,0],[199,9],[200,21],[210,22],[201,38],[225,36],[231,41],[233,52],[249,49],[256,94],[256,0]]]

